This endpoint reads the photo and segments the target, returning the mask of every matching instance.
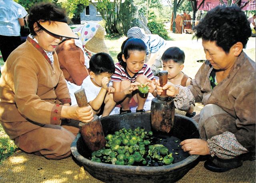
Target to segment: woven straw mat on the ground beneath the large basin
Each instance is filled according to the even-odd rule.
[[[49,160],[34,154],[17,151],[0,165],[0,183],[100,183],[72,157]],[[255,161],[245,161],[242,167],[224,173],[204,168],[201,161],[178,183],[253,183]]]

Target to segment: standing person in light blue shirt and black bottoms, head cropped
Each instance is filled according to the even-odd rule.
[[[20,26],[24,26],[24,17],[28,14],[18,3],[12,0],[0,1],[0,51],[4,62],[10,53],[20,46]]]

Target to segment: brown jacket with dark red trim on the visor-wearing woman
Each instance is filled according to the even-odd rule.
[[[57,54],[53,56],[51,65],[44,50],[28,38],[2,67],[0,123],[11,139],[43,124],[60,124],[59,104],[71,100]]]

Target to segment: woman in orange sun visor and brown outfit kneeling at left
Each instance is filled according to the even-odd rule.
[[[77,39],[64,10],[52,3],[30,8],[30,35],[2,67],[0,124],[23,151],[62,159],[78,124],[93,119],[92,107],[70,106],[68,88],[60,70],[56,46],[62,38]]]

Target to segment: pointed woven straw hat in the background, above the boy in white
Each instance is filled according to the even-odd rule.
[[[106,46],[104,41],[104,35],[105,35],[105,30],[101,25],[99,25],[96,31],[96,34],[84,46],[86,50],[89,50],[93,53],[100,53],[100,52],[109,53],[108,47]]]

